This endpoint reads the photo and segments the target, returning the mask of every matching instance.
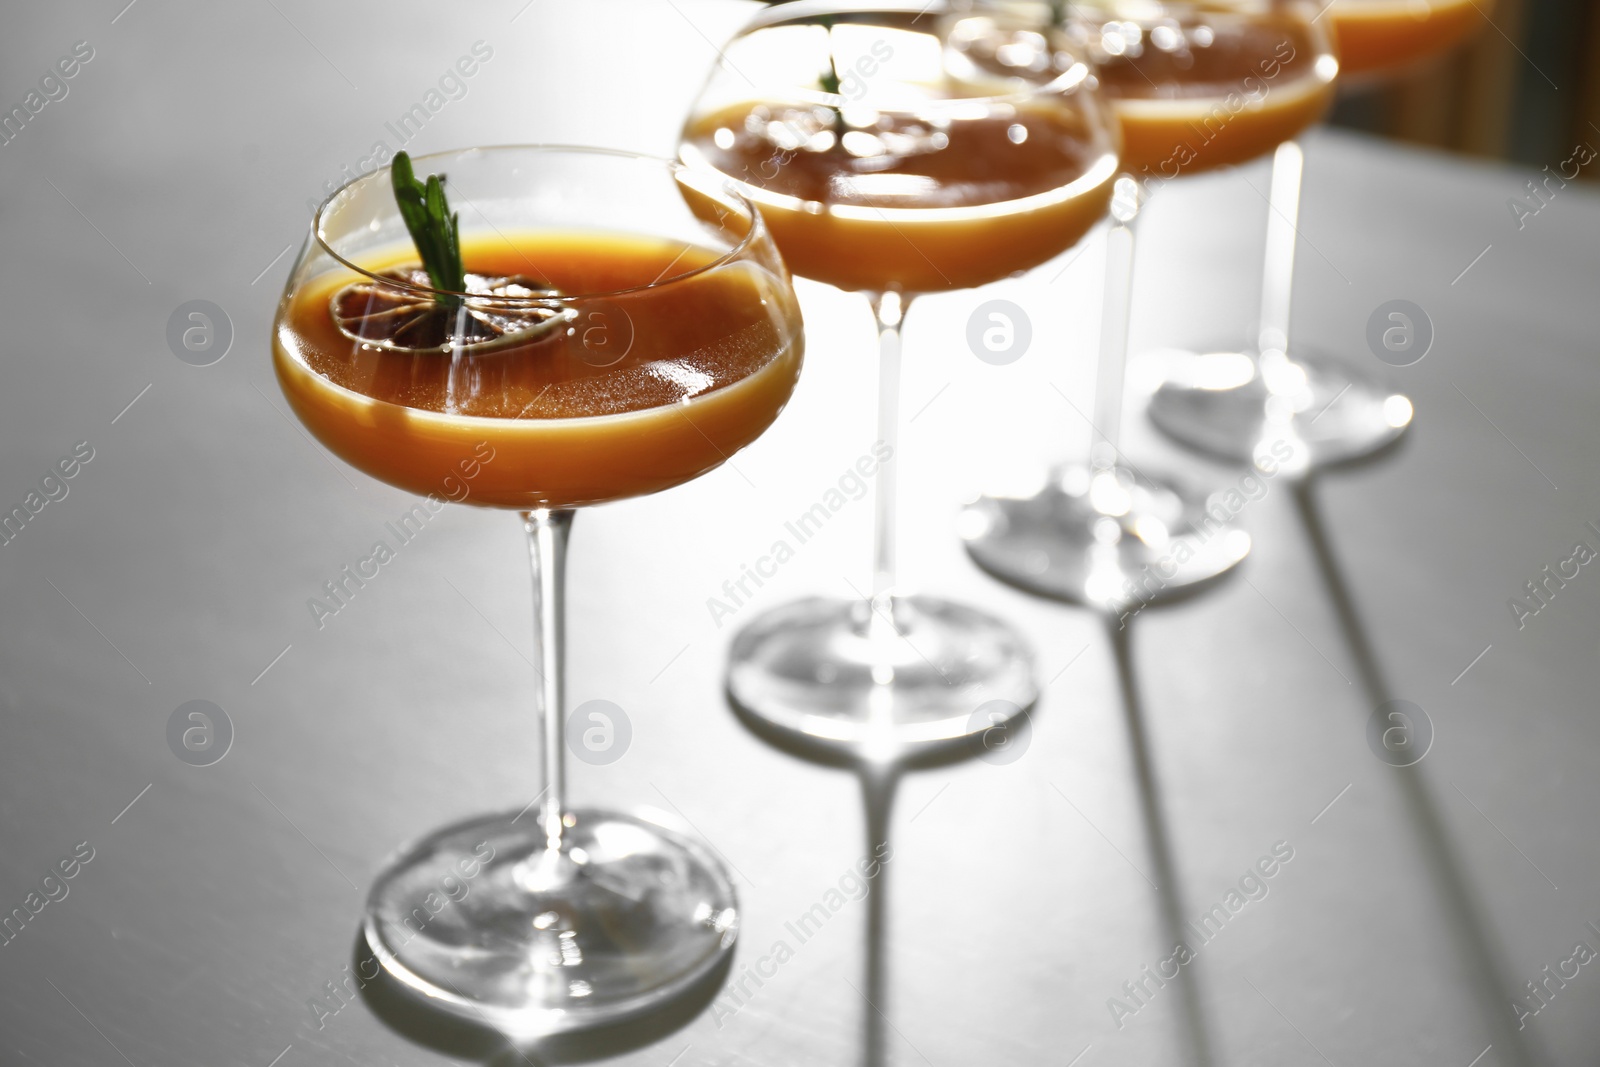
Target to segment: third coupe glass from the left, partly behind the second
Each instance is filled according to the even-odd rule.
[[[1322,115],[1338,64],[1314,14],[1294,3],[1221,0],[990,10],[992,30],[970,51],[992,67],[1037,67],[1062,50],[1088,56],[1123,139],[1090,462],[1053,472],[1034,493],[987,496],[968,509],[968,552],[992,574],[1125,614],[1213,581],[1248,553],[1250,536],[1232,515],[1208,512],[1202,494],[1139,470],[1118,448],[1134,221],[1168,181],[1270,152]]]

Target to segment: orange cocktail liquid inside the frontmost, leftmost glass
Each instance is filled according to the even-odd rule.
[[[802,341],[787,282],[758,264],[659,238],[523,232],[467,242],[478,275],[539,277],[565,293],[616,293],[522,341],[454,354],[354,341],[334,269],[285,299],[274,365],[294,414],[334,454],[413,493],[438,493],[486,445],[469,502],[578,507],[688,482],[778,416]],[[370,256],[378,274],[414,259]],[[670,286],[646,286],[662,277]],[[477,466],[475,466],[477,467]]]

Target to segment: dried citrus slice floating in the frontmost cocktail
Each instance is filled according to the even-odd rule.
[[[435,301],[432,293],[424,291],[427,286],[427,272],[421,267],[384,270],[334,293],[330,312],[346,338],[403,352],[520,346],[573,318],[573,310],[554,299],[549,304],[530,302],[560,293],[525,275],[469,274],[469,296],[454,306]]]

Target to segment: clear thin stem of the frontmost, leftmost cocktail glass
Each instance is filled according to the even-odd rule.
[[[522,514],[533,561],[533,643],[539,664],[539,742],[544,749],[544,790],[539,825],[549,851],[562,848],[562,816],[566,800],[566,536],[573,512],[539,509]]]

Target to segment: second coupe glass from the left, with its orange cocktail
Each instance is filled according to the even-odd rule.
[[[728,665],[747,715],[869,755],[981,733],[1038,696],[1010,625],[899,587],[906,309],[1061,254],[1104,214],[1117,171],[1088,67],[976,70],[950,48],[960,24],[938,0],[776,6],[723,50],[683,131],[682,158],[741,184],[795,274],[862,293],[877,315],[872,590],[766,611]]]

